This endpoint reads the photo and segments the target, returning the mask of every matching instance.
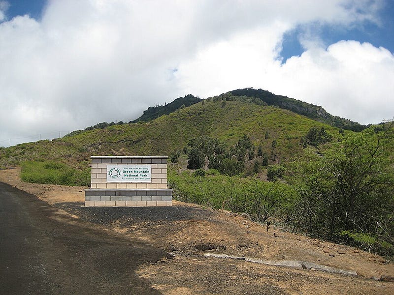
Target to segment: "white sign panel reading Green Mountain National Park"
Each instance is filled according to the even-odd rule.
[[[107,182],[151,182],[152,165],[107,165]]]

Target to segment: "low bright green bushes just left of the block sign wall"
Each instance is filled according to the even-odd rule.
[[[88,186],[90,169],[81,171],[54,161],[26,161],[22,163],[21,179],[33,183]]]

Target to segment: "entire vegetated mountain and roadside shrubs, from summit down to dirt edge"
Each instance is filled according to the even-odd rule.
[[[25,181],[88,185],[90,155],[169,155],[179,200],[394,255],[393,123],[364,129],[261,89],[180,102],[148,109],[147,122],[0,148],[0,166],[21,165]]]

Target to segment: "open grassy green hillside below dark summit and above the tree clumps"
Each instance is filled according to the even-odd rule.
[[[34,159],[62,159],[83,165],[90,155],[169,155],[202,135],[235,145],[244,134],[269,152],[277,142],[277,162],[295,157],[300,139],[311,127],[325,126],[333,136],[338,129],[273,106],[239,101],[199,102],[149,122],[112,125],[53,141],[26,143],[0,149],[1,166]],[[85,163],[87,165],[87,162]]]

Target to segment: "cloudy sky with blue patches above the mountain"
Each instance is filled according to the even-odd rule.
[[[0,146],[247,87],[394,117],[394,0],[0,0]]]

